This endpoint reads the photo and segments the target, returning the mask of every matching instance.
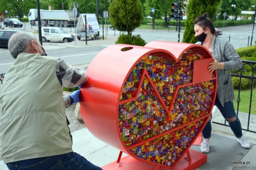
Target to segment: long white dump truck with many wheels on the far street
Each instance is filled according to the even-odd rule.
[[[73,17],[72,10],[43,10],[40,9],[41,25],[54,27],[71,27],[77,21],[77,17]],[[37,9],[29,10],[29,24],[38,24]]]

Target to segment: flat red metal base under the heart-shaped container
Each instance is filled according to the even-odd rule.
[[[201,152],[189,149],[189,154],[191,159],[187,160],[187,154],[184,159],[181,159],[174,170],[194,170],[202,166],[207,161],[207,155]],[[114,161],[101,167],[103,170],[167,170],[167,168],[155,166],[149,163],[145,163],[135,159],[134,157],[128,155],[120,159],[120,161]]]

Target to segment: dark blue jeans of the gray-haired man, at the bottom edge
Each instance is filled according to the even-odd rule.
[[[75,152],[21,160],[6,165],[10,170],[102,170]]]

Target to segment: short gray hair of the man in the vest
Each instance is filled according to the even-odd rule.
[[[35,36],[30,32],[17,32],[11,36],[8,42],[8,49],[11,56],[17,59],[19,53],[25,53],[30,50],[31,41],[38,42]]]

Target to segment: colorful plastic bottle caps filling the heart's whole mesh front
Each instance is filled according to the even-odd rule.
[[[194,61],[210,57],[190,49],[178,63],[165,52],[150,53],[136,63],[118,108],[120,136],[132,154],[175,164],[206,121],[200,117],[212,106],[216,80],[192,83]]]

